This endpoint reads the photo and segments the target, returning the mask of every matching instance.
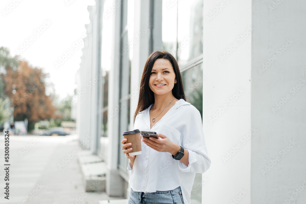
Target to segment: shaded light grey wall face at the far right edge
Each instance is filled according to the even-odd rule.
[[[252,5],[251,203],[306,201],[306,2]]]

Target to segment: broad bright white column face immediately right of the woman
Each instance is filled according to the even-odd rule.
[[[202,203],[250,203],[252,4],[204,2],[203,131],[212,163]]]

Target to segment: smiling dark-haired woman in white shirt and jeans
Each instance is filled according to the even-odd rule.
[[[142,154],[129,156],[131,143],[121,141],[129,158],[132,203],[189,203],[195,173],[210,166],[200,112],[185,101],[175,58],[151,53],[140,82],[134,129],[158,133],[142,138]]]

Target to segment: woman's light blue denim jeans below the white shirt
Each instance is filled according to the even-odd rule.
[[[171,191],[156,191],[153,193],[136,192],[131,188],[128,204],[184,204],[181,186]]]

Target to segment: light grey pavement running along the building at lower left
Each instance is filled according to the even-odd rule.
[[[10,136],[9,138],[9,200],[7,200],[4,199],[5,146],[4,137],[0,137],[2,160],[0,203],[99,204],[101,200],[122,199],[109,197],[105,192],[85,192],[77,155],[72,154],[73,151],[80,151],[77,148],[77,135]],[[66,164],[64,162],[64,165],[63,159],[68,161]]]

